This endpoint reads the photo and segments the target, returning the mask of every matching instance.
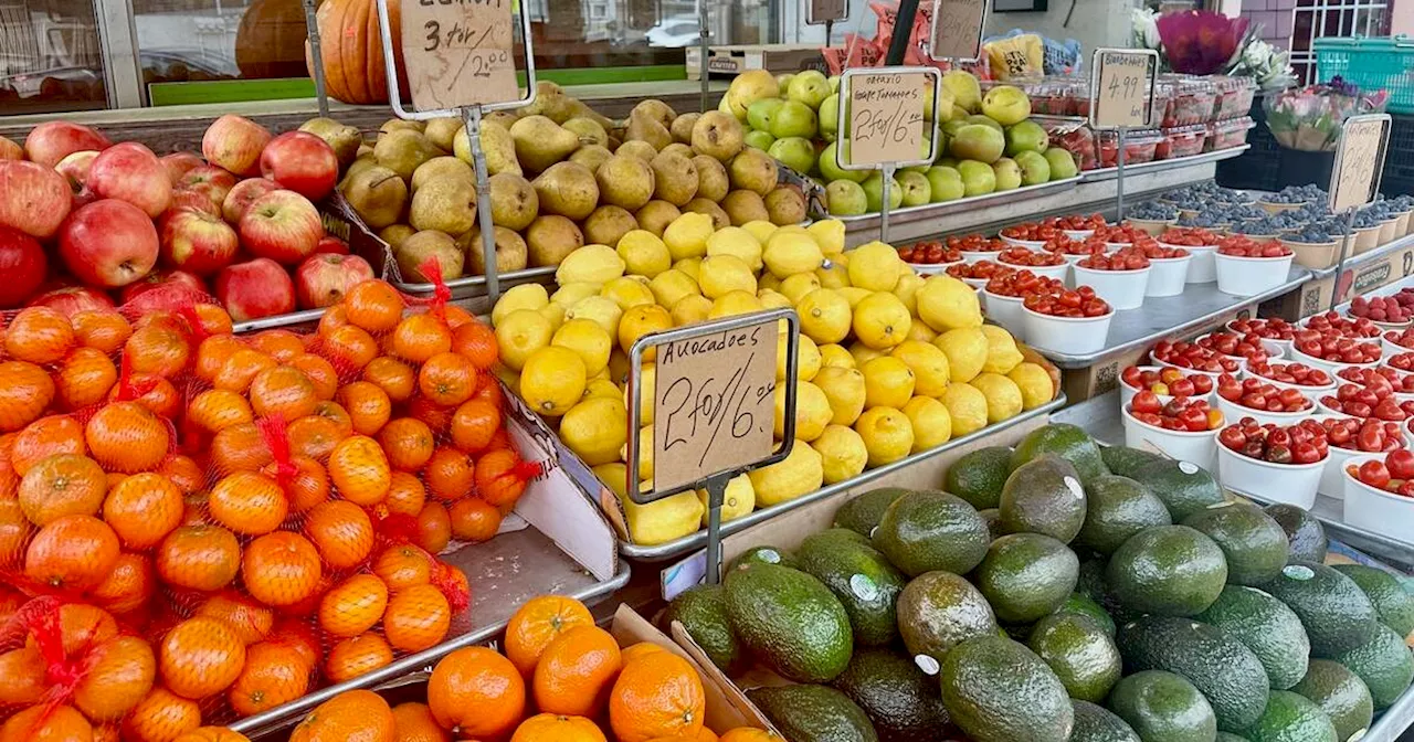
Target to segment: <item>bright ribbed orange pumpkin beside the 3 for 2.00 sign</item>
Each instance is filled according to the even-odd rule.
[[[399,55],[399,88],[404,100],[407,76],[402,72],[402,13],[399,0],[387,0],[393,51]],[[329,98],[352,105],[387,103],[387,68],[373,0],[324,0],[315,11],[320,54],[324,61],[324,89]],[[314,75],[314,55],[304,44],[304,61]]]

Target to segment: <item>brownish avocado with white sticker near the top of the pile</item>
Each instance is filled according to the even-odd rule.
[[[1003,533],[1041,533],[1069,544],[1085,524],[1080,475],[1060,457],[1039,455],[1012,469],[997,510]]]

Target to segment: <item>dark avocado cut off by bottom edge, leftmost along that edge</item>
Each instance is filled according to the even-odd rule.
[[[747,698],[790,742],[878,742],[874,725],[854,701],[824,685],[766,685]]]

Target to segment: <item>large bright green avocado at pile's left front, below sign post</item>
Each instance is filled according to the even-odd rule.
[[[727,574],[731,628],[786,680],[827,683],[854,650],[850,616],[819,579],[789,567],[747,564]]]

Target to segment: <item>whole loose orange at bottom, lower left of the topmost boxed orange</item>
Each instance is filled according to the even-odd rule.
[[[433,669],[427,705],[452,738],[503,736],[525,712],[526,685],[510,660],[495,650],[458,649]]]

